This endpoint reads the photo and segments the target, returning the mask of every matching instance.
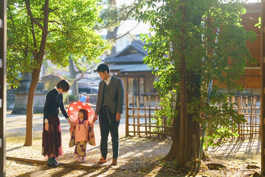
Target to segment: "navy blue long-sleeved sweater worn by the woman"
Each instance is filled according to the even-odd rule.
[[[62,94],[59,94],[56,89],[52,89],[46,95],[46,101],[43,109],[44,120],[47,119],[49,121],[49,116],[59,117],[59,108],[61,109],[64,117],[67,119],[69,116],[64,109]]]

